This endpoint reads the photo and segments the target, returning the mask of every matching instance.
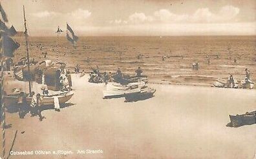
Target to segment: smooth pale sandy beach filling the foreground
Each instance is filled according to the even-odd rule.
[[[103,99],[104,84],[72,75],[74,97],[60,112],[49,108],[20,119],[6,113],[6,151],[72,151],[10,158],[253,158],[256,125],[226,127],[228,115],[255,111],[255,89],[149,84],[155,97],[125,103]],[[25,132],[23,132],[25,131]],[[23,132],[23,133],[21,133]],[[78,154],[78,150],[102,150]]]

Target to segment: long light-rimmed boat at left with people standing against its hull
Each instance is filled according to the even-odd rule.
[[[49,95],[47,96],[42,96],[43,100],[42,100],[42,104],[43,105],[53,105],[54,104],[54,97],[58,97],[59,99],[59,104],[63,104],[65,102],[67,102],[68,100],[70,100],[70,98],[74,95],[73,91],[65,91],[65,92],[61,92],[58,94],[54,94],[54,95]],[[19,98],[19,95],[5,95],[4,96],[4,102],[6,105],[11,105],[11,104],[17,104],[17,100]],[[32,97],[27,97],[27,103],[30,104]]]

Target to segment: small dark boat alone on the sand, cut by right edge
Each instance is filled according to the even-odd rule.
[[[229,118],[232,127],[256,124],[256,111],[243,115],[229,115]]]

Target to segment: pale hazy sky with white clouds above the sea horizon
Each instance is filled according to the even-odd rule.
[[[54,36],[256,35],[255,0],[1,0],[8,25]],[[65,33],[62,33],[65,35]]]

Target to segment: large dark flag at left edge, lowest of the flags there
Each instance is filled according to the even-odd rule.
[[[19,43],[12,40],[12,38],[8,37],[5,33],[1,35],[1,53],[5,57],[14,57],[14,51],[19,48]]]

